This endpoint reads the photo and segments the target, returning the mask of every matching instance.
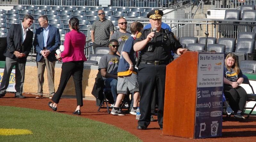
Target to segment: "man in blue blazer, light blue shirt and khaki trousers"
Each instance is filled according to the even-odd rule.
[[[37,65],[37,94],[36,98],[43,98],[44,69],[47,69],[49,97],[54,93],[54,67],[55,51],[60,47],[59,29],[48,24],[46,15],[38,17],[38,23],[41,26],[36,30],[34,47],[36,48],[36,65]]]

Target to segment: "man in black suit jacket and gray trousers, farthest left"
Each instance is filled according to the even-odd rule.
[[[22,96],[25,76],[25,65],[28,54],[32,48],[33,32],[28,28],[33,24],[34,18],[31,15],[24,15],[21,24],[12,24],[7,34],[7,48],[4,51],[6,56],[4,75],[0,85],[0,98],[6,94],[9,85],[9,78],[13,66],[15,66],[15,98],[26,98]]]

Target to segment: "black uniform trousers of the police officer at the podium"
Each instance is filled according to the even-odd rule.
[[[139,125],[148,127],[150,124],[151,102],[156,88],[156,93],[158,94],[157,119],[160,128],[163,128],[165,71],[166,65],[140,64],[139,66]]]

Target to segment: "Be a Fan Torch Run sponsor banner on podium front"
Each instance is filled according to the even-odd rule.
[[[224,53],[198,56],[195,138],[221,136]]]

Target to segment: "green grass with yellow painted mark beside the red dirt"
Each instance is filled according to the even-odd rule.
[[[0,142],[138,142],[131,133],[91,119],[0,106]]]

